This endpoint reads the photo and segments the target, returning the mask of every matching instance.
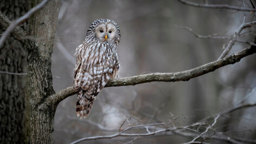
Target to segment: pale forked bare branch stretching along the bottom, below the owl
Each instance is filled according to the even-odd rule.
[[[220,112],[211,116],[208,116],[207,118],[204,118],[202,120],[200,120],[199,122],[195,122],[194,124],[191,125],[187,125],[187,126],[170,126],[169,124],[165,124],[165,123],[157,123],[157,124],[148,124],[148,125],[138,125],[138,126],[131,126],[131,127],[127,127],[125,128],[123,131],[118,132],[116,134],[113,135],[100,135],[100,136],[92,136],[92,137],[87,137],[87,138],[82,138],[79,140],[76,140],[74,142],[72,142],[72,144],[75,143],[79,143],[82,141],[88,141],[88,140],[98,140],[98,139],[112,139],[112,138],[116,138],[116,137],[120,137],[120,136],[128,136],[128,137],[145,137],[145,136],[152,136],[152,135],[172,135],[172,134],[177,134],[177,135],[181,135],[181,136],[185,136],[185,137],[195,137],[192,141],[188,142],[188,143],[206,143],[206,142],[202,142],[202,141],[196,141],[199,138],[212,138],[212,139],[216,139],[216,140],[220,140],[220,141],[226,141],[226,142],[234,142],[234,141],[241,141],[241,142],[255,142],[254,140],[247,140],[247,139],[241,139],[241,138],[222,138],[221,136],[221,132],[215,132],[214,134],[208,134],[209,131],[215,131],[214,130],[214,125],[217,123],[218,118],[220,118],[220,116],[226,115],[228,113],[232,113],[234,111],[238,111],[239,109],[243,109],[243,108],[248,108],[248,107],[255,107],[256,104],[244,104],[244,105],[240,105],[238,107],[233,107],[228,109],[227,111],[224,112]],[[212,124],[210,124],[210,120],[213,120]],[[188,129],[193,129],[196,128],[197,126],[201,126],[201,125],[208,125],[205,129],[205,131],[198,133],[197,131],[188,131],[186,132],[186,130]],[[129,130],[135,129],[135,128],[141,128],[141,127],[148,127],[148,126],[164,126],[164,127],[156,127],[155,129],[153,129],[152,132],[148,131],[148,133],[125,133]]]

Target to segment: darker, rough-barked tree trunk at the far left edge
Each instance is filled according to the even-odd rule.
[[[30,8],[25,0],[1,0],[0,10],[10,20],[24,15]],[[28,23],[21,27],[27,29]],[[0,33],[3,33],[0,26]],[[25,73],[26,53],[20,42],[13,37],[5,40],[0,49],[0,71]],[[0,143],[27,143],[28,99],[26,95],[26,76],[0,73]]]

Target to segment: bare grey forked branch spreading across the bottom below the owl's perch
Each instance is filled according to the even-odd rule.
[[[132,127],[127,127],[125,128],[123,131],[121,132],[118,132],[116,134],[113,134],[113,135],[102,135],[102,136],[92,136],[92,137],[88,137],[88,138],[82,138],[82,139],[79,139],[79,140],[76,140],[74,142],[72,142],[71,144],[75,144],[75,143],[79,143],[81,141],[86,141],[86,140],[97,140],[97,139],[112,139],[112,138],[116,138],[118,136],[152,136],[152,135],[156,135],[156,134],[159,134],[159,133],[164,133],[164,135],[171,135],[171,134],[178,134],[178,135],[182,135],[182,136],[186,136],[186,137],[191,137],[191,136],[195,136],[196,135],[196,138],[194,138],[191,142],[188,142],[188,143],[206,143],[206,142],[199,142],[199,141],[195,141],[196,139],[200,138],[200,137],[206,137],[207,135],[205,135],[209,129],[212,129],[213,126],[216,124],[217,122],[217,119],[222,115],[222,114],[227,114],[227,113],[231,113],[231,112],[234,112],[238,109],[242,109],[242,108],[246,108],[246,107],[253,107],[253,106],[256,106],[256,104],[245,104],[245,105],[241,105],[239,107],[234,107],[234,108],[231,108],[231,109],[228,109],[227,111],[225,112],[220,112],[220,113],[217,113],[215,114],[215,116],[209,116],[208,118],[204,118],[203,120],[201,120],[201,122],[195,122],[194,124],[191,124],[191,125],[188,125],[188,126],[182,126],[182,127],[169,127],[169,128],[158,128],[157,131],[155,132],[149,132],[147,131],[147,133],[124,133],[130,129],[134,129],[134,128],[139,128],[139,127],[147,127],[147,126],[161,126],[161,125],[166,125],[165,123],[159,123],[159,124],[149,124],[149,125],[138,125],[138,126],[132,126]],[[182,132],[181,130],[182,129],[188,129],[189,127],[195,127],[195,126],[199,126],[199,125],[205,125],[207,124],[205,121],[209,120],[209,118],[213,118],[214,117],[214,121],[212,123],[212,125],[209,125],[206,130],[204,132],[202,132],[201,134],[195,134],[194,132],[192,133],[185,133],[185,132]],[[166,133],[166,132],[171,132],[171,133]],[[204,136],[205,135],[205,136]],[[221,141],[227,141],[227,142],[235,142],[234,140],[231,140],[231,138],[221,138],[219,136],[208,136],[207,138],[213,138],[213,139],[217,139],[217,140],[221,140]],[[253,140],[243,140],[243,139],[240,139],[240,138],[234,138],[234,139],[237,139],[239,141],[253,141]]]

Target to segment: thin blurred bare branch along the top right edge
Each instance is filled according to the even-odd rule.
[[[231,10],[238,10],[238,11],[256,11],[256,9],[252,9],[252,8],[240,8],[239,6],[233,6],[233,5],[227,5],[227,4],[200,4],[200,3],[193,3],[185,0],[178,0],[178,1],[183,4],[200,7],[200,8],[231,9]]]

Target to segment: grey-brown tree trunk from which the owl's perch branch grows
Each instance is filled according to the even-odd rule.
[[[40,1],[41,2],[41,1]],[[39,1],[34,0],[37,5]],[[35,6],[34,5],[34,6]],[[41,107],[52,85],[52,53],[60,0],[49,1],[31,17],[29,35],[34,44],[27,44],[28,94],[30,95],[30,143],[54,143],[53,124],[57,105]],[[29,43],[29,42],[28,42]]]

